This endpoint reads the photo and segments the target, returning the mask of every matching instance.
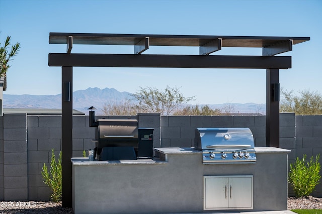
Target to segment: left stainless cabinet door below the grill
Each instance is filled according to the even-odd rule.
[[[204,177],[204,210],[228,207],[228,178]]]

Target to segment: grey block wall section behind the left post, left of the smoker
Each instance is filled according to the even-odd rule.
[[[61,150],[61,116],[28,116],[28,199],[48,200],[50,189],[42,179],[42,167],[50,168],[52,149],[56,159]],[[93,149],[94,129],[89,118],[73,116],[73,157],[82,157],[83,150]]]

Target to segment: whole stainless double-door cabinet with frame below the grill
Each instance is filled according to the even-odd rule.
[[[253,209],[253,175],[204,176],[203,209]]]

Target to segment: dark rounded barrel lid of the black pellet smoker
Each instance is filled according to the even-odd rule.
[[[99,119],[98,133],[100,139],[137,139],[137,120]]]

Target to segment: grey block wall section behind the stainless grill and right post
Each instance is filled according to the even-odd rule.
[[[295,146],[294,121],[292,113],[280,116],[281,148]],[[255,146],[266,146],[266,116],[162,116],[160,126],[162,147],[193,147],[194,130],[203,127],[248,127]]]

